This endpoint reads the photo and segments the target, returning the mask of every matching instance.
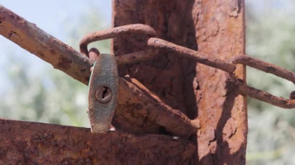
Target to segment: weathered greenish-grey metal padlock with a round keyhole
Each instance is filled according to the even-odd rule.
[[[88,86],[91,132],[106,133],[110,129],[117,102],[118,69],[114,54],[98,56]]]

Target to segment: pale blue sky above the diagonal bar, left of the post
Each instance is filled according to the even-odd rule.
[[[33,22],[49,34],[63,38],[61,24],[67,18],[75,18],[91,7],[111,22],[112,0],[4,0],[0,4]],[[1,41],[4,41],[1,37]],[[1,48],[1,47],[0,47]]]

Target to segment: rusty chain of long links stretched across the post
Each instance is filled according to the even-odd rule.
[[[111,28],[108,30],[102,30],[102,31],[97,31],[94,33],[87,34],[80,42],[80,51],[82,54],[92,58],[90,53],[93,51],[93,49],[91,49],[88,53],[88,50],[87,50],[88,43],[93,41],[100,41],[100,40],[115,38],[124,34],[148,35],[148,37],[151,37],[151,38],[148,39],[147,46],[151,49],[131,53],[128,55],[116,56],[116,61],[118,65],[151,59],[152,57],[154,57],[154,55],[158,53],[159,50],[164,50],[167,52],[182,55],[183,57],[186,57],[186,58],[190,58],[192,60],[195,60],[198,63],[228,72],[230,77],[232,78],[231,83],[233,83],[236,86],[239,94],[250,96],[281,108],[286,108],[286,109],[295,108],[295,92],[292,92],[290,94],[289,96],[290,99],[273,96],[267,92],[249,87],[248,85],[246,85],[245,82],[238,79],[233,72],[236,69],[236,66],[235,66],[236,64],[243,64],[255,69],[262,70],[266,73],[274,74],[283,79],[289,80],[293,83],[295,83],[295,73],[287,69],[283,69],[274,64],[253,58],[248,55],[234,55],[229,60],[223,60],[223,59],[216,58],[212,55],[206,55],[199,51],[195,51],[186,47],[179,46],[169,41],[164,41],[159,38],[153,38],[153,37],[157,37],[157,33],[153,28],[149,27],[148,25],[131,24],[131,25]]]

